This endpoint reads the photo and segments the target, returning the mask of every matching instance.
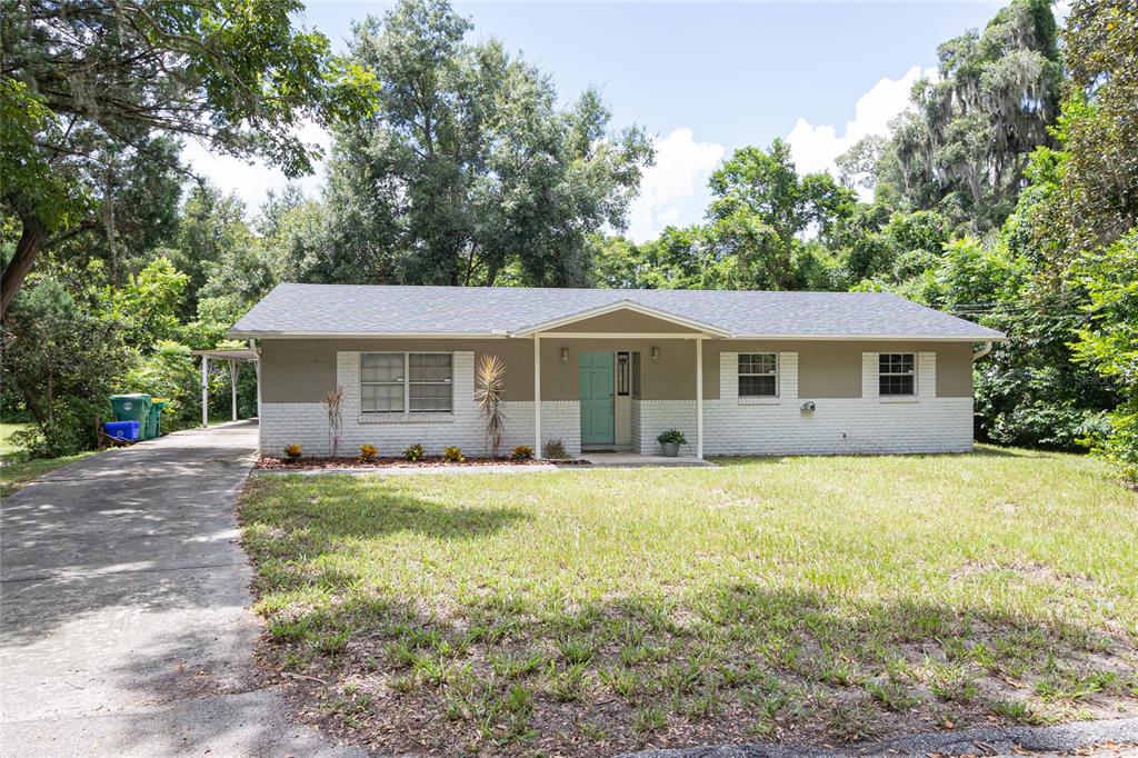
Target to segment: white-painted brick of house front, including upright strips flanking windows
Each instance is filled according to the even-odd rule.
[[[799,397],[798,356],[782,353],[777,398],[737,397],[737,357],[721,355],[720,399],[703,406],[706,455],[783,455],[825,453],[941,453],[972,450],[972,398],[935,396],[935,354],[922,353],[918,395],[882,398],[876,393],[876,354],[864,360],[866,396],[860,398]],[[399,454],[421,443],[431,454],[457,445],[467,454],[486,452],[485,423],[473,398],[473,353],[454,353],[454,412],[412,418],[360,414],[358,354],[339,353],[337,378],[345,389],[340,454],[354,455],[360,445],[376,445],[381,455]],[[816,410],[802,411],[813,399]],[[534,444],[533,402],[505,403],[503,451]],[[676,428],[688,444],[682,455],[695,453],[695,401],[632,401],[633,448],[658,454],[657,435]],[[580,454],[580,407],[576,401],[543,401],[542,442],[562,438],[571,455]],[[261,409],[262,451],[281,454],[298,443],[308,454],[329,452],[328,420],[320,403],[265,403]],[[539,451],[538,451],[539,452]]]

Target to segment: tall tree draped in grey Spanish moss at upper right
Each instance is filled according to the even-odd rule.
[[[1013,0],[982,34],[938,52],[939,76],[914,86],[915,108],[900,116],[879,179],[912,207],[984,232],[1015,206],[1030,153],[1054,145],[1062,58],[1050,0]]]

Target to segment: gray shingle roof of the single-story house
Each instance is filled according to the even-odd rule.
[[[230,336],[501,335],[622,300],[732,337],[1004,338],[993,329],[884,293],[289,283],[257,303]]]

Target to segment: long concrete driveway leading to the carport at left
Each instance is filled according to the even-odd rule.
[[[256,425],[59,469],[0,506],[0,755],[355,755],[251,661],[234,506]]]

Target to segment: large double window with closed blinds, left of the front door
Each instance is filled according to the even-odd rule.
[[[451,353],[362,353],[363,413],[451,413],[454,410]]]

